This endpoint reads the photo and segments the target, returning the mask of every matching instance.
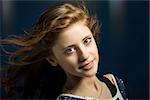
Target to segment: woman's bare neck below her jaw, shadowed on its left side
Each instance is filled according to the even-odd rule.
[[[69,76],[64,85],[64,91],[75,95],[94,97],[97,93],[100,94],[100,81],[97,79],[96,75],[84,78]]]

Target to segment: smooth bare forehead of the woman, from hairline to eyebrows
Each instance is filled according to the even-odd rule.
[[[92,33],[85,24],[75,23],[59,34],[56,45],[64,47],[66,45],[78,44],[89,35],[92,35]]]

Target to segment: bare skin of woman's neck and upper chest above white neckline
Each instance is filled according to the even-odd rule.
[[[66,93],[71,93],[78,96],[89,96],[93,98],[109,99],[111,93],[105,83],[99,81],[96,76],[78,81],[70,80],[65,84]]]

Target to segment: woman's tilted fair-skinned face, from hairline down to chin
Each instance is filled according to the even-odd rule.
[[[90,77],[97,72],[97,45],[83,22],[77,22],[60,33],[52,51],[52,59],[67,75]]]

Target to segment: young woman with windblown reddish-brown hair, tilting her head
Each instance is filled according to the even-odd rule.
[[[120,79],[113,74],[96,76],[99,30],[96,17],[84,6],[62,4],[45,11],[27,36],[1,40],[20,46],[10,56],[4,98],[126,99]],[[23,86],[15,86],[19,82]]]

